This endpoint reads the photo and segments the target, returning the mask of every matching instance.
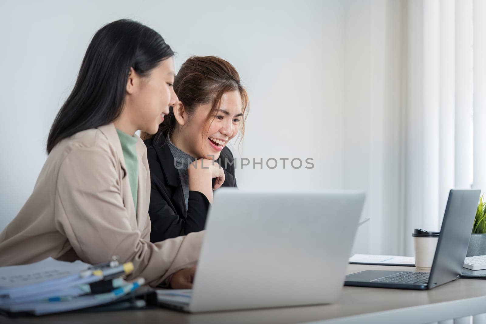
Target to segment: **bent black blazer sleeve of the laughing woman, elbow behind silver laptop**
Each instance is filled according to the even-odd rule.
[[[187,215],[178,215],[170,204],[170,198],[164,191],[166,184],[161,180],[162,169],[154,150],[148,154],[151,178],[149,215],[151,231],[150,241],[159,242],[165,239],[188,235],[204,229],[208,215],[209,201],[199,191],[189,191]]]

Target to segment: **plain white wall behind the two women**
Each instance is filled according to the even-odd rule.
[[[314,159],[312,170],[239,169],[240,188],[354,187],[349,176],[344,181],[345,168],[353,168],[343,147],[350,140],[342,109],[346,10],[339,0],[1,1],[0,229],[34,187],[52,120],[91,36],[122,17],[162,34],[178,52],[177,65],[191,54],[214,54],[240,71],[251,111],[235,155]]]

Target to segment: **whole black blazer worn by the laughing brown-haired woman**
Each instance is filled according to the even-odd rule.
[[[189,191],[186,211],[179,171],[174,166],[174,156],[169,146],[164,143],[165,136],[160,136],[156,142],[153,139],[145,140],[151,178],[149,205],[151,242],[202,231],[209,207],[208,199],[203,193]],[[227,147],[221,151],[216,162],[225,171],[225,182],[222,187],[236,187],[234,158]]]

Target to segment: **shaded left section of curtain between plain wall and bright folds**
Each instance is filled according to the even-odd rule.
[[[345,5],[344,188],[366,192],[354,252],[401,254],[403,2]]]

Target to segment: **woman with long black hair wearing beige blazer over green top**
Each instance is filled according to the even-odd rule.
[[[133,262],[131,277],[191,287],[203,233],[150,242],[147,150],[135,135],[155,134],[178,101],[173,55],[160,34],[132,20],[93,36],[34,191],[0,234],[0,266],[119,256]]]

